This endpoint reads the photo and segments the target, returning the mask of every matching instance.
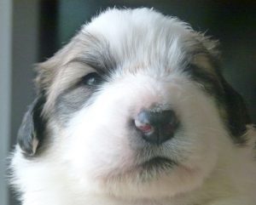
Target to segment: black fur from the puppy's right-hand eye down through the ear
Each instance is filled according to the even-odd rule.
[[[241,95],[224,80],[218,68],[211,73],[197,65],[189,65],[186,71],[195,82],[203,85],[207,94],[214,97],[219,109],[225,111],[226,115],[223,120],[233,141],[236,144],[243,144],[246,141],[243,136],[247,129],[246,125],[252,121]]]

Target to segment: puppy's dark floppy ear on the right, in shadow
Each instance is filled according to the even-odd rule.
[[[247,130],[246,125],[252,123],[251,118],[241,95],[224,80],[224,77],[221,77],[221,83],[224,88],[224,104],[230,134],[237,143],[242,143],[245,139],[241,136]]]

